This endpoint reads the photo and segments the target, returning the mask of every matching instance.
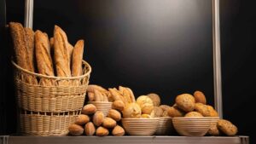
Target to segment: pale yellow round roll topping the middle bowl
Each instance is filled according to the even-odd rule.
[[[153,101],[146,95],[139,96],[136,103],[141,107],[143,114],[150,114],[154,109]]]

